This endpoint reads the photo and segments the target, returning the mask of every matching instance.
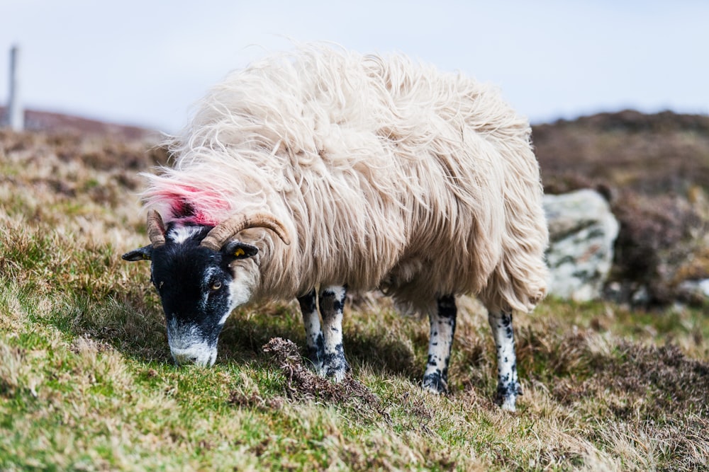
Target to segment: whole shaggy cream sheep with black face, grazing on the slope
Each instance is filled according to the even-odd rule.
[[[456,297],[489,311],[496,401],[521,393],[513,311],[546,292],[530,126],[492,86],[403,55],[303,45],[233,71],[146,175],[151,260],[175,361],[211,365],[235,307],[297,299],[308,359],[350,369],[348,291],[428,314],[423,388],[448,389]],[[318,307],[322,316],[318,316]]]

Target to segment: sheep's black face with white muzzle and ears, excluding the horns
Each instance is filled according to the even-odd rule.
[[[160,294],[167,324],[167,340],[178,363],[212,365],[217,340],[229,313],[245,302],[239,275],[232,264],[255,255],[258,249],[238,241],[221,251],[199,246],[208,227],[194,227],[189,237],[167,232],[164,246],[140,248],[126,260],[152,260],[151,280]]]

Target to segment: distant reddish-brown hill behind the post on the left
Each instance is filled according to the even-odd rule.
[[[4,118],[4,116],[5,108],[0,107],[0,118]],[[106,136],[130,141],[157,141],[158,139],[158,133],[152,129],[116,125],[115,123],[38,110],[25,111],[25,129],[27,131],[69,133],[82,136]]]

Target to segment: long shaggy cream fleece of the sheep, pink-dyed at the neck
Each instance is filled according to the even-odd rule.
[[[385,288],[423,310],[471,293],[528,311],[546,291],[547,225],[530,127],[498,91],[406,57],[321,45],[230,74],[170,143],[143,197],[166,221],[266,210],[255,299]],[[249,237],[247,233],[242,237]]]

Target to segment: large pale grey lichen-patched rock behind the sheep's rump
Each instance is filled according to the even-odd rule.
[[[601,298],[613,263],[618,220],[594,190],[545,195],[549,224],[549,294],[576,301]]]

